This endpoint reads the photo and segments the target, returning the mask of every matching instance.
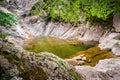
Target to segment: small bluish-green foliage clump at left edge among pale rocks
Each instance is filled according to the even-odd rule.
[[[0,10],[0,25],[5,26],[7,28],[17,25],[19,23],[18,17],[10,14],[10,13],[5,13]]]

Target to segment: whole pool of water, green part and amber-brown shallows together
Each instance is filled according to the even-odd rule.
[[[91,66],[94,66],[101,59],[114,57],[111,51],[98,48],[97,42],[64,40],[54,37],[37,37],[28,40],[24,43],[24,49],[35,53],[50,52],[63,59],[72,59],[79,55],[85,55],[85,65]]]

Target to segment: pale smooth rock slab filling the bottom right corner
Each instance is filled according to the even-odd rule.
[[[101,60],[95,67],[76,66],[82,80],[120,80],[120,58]]]

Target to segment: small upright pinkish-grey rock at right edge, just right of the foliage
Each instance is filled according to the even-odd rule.
[[[120,32],[120,15],[115,14],[113,17],[113,27],[115,28],[116,32]]]

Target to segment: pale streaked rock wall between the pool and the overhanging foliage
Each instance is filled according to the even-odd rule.
[[[78,39],[85,41],[98,41],[104,30],[99,26],[89,28],[88,24],[79,27],[73,27],[69,23],[51,22],[38,20],[31,24],[31,19],[26,17],[23,22],[28,26],[31,34],[34,36],[53,36],[62,39]]]

